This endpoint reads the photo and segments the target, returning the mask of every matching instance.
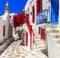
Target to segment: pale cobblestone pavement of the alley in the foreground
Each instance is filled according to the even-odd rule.
[[[20,45],[20,40],[13,42],[0,58],[47,58],[42,52],[28,51],[26,46]]]

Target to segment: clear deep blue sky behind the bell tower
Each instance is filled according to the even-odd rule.
[[[21,13],[26,5],[27,0],[0,0],[0,15],[5,12],[5,4],[8,1],[10,13]]]

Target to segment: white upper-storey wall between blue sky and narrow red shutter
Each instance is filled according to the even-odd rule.
[[[35,6],[35,0],[28,0],[26,5],[25,5],[25,8],[24,8],[25,13],[29,14],[29,21],[30,21],[31,25],[32,25],[32,14],[31,14],[31,12],[32,12],[33,5]]]

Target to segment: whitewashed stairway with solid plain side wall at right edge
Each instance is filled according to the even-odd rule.
[[[52,26],[46,32],[49,58],[60,58],[60,28]]]

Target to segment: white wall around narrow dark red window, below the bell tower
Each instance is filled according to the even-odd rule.
[[[5,36],[3,36],[3,26],[5,25]],[[4,38],[8,39],[8,15],[4,14],[0,17],[0,42],[4,40]]]

